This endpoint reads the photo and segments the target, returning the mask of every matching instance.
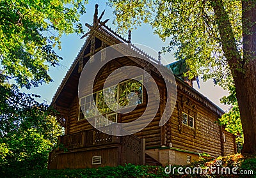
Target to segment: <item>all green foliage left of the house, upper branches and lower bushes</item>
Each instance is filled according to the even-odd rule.
[[[65,34],[83,32],[79,17],[83,0],[0,1],[0,169],[16,177],[25,170],[44,168],[61,128],[45,103],[19,87],[51,82],[49,66],[61,59]],[[15,83],[14,83],[15,81]],[[17,85],[15,85],[17,84]],[[13,174],[12,174],[13,173]],[[7,176],[8,175],[8,176]]]

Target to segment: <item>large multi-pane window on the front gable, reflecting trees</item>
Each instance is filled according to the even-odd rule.
[[[104,100],[104,96],[106,101]],[[104,90],[84,96],[80,99],[79,103],[79,120],[97,115],[106,115],[106,118],[109,117],[109,121],[116,122],[117,114],[113,113],[113,110],[143,103],[143,76],[136,77],[136,80],[125,80],[118,85],[107,87]],[[118,108],[118,105],[122,108]],[[97,113],[95,107],[98,108],[99,113]],[[108,125],[102,117],[95,117],[95,119],[96,126]]]

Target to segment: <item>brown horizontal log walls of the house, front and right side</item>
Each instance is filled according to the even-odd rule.
[[[120,58],[113,63],[106,64],[105,68],[100,71],[99,76],[97,77],[97,81],[94,85],[94,90],[99,91],[102,89],[103,84],[108,75],[120,68],[120,66],[138,66],[138,64],[134,63],[128,58]],[[125,74],[124,74],[125,75]],[[159,90],[161,92],[161,97],[165,97],[165,89],[163,80],[159,80],[157,75],[152,73],[152,76],[156,79],[157,85],[159,86]],[[157,78],[158,77],[158,78]],[[184,85],[177,81],[177,85]],[[187,86],[188,87],[188,86]],[[145,90],[143,94],[145,95]],[[148,96],[151,97],[151,96]],[[202,96],[198,96],[202,97]],[[182,99],[183,98],[183,99]],[[189,101],[190,105],[193,105],[193,110],[196,110],[196,119],[195,119],[195,128],[189,128],[188,126],[182,126],[182,131],[180,131],[180,109],[179,104],[184,102],[184,98]],[[118,122],[132,122],[138,119],[144,112],[145,107],[147,106],[145,103],[145,99],[147,96],[144,96],[144,103],[138,105],[135,110],[130,112],[129,114],[118,114]],[[156,103],[157,104],[157,103]],[[187,104],[187,103],[186,103]],[[162,102],[163,105],[163,102]],[[154,103],[148,106],[149,108],[154,108]],[[78,98],[74,98],[72,104],[70,105],[70,114],[68,116],[68,124],[67,124],[67,133],[77,133],[82,130],[91,130],[93,127],[90,123],[88,123],[85,119],[78,121],[78,112],[79,112],[79,102]],[[161,119],[161,109],[159,107],[157,114],[148,114],[148,118],[154,117],[152,122],[148,124],[146,128],[135,133],[138,138],[145,138],[146,147],[161,147],[164,143],[167,147],[172,146],[178,149],[193,151],[193,152],[206,152],[211,154],[211,156],[218,156],[221,154],[230,154],[232,150],[234,151],[234,142],[230,135],[227,134],[227,141],[223,142],[222,130],[218,123],[218,117],[220,117],[216,112],[210,110],[205,107],[204,104],[198,102],[195,98],[189,96],[188,93],[182,91],[180,87],[178,87],[178,95],[177,95],[177,104],[173,111],[172,117],[166,124],[164,129],[159,127],[159,121]],[[143,121],[141,122],[143,124]],[[132,127],[138,127],[140,124]],[[224,143],[225,145],[223,145]]]

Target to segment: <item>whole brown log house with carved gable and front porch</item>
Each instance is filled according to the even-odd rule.
[[[52,100],[52,106],[58,111],[58,121],[65,127],[65,135],[58,139],[62,146],[49,154],[48,168],[115,167],[125,163],[186,164],[197,160],[199,154],[203,152],[211,156],[234,154],[236,152],[234,135],[218,124],[218,118],[224,113],[223,110],[193,89],[190,80],[182,78],[183,69],[179,68],[179,62],[170,64],[175,74],[177,101],[172,115],[163,126],[159,126],[159,121],[163,115],[162,105],[166,103],[166,88],[163,78],[159,77],[154,67],[149,67],[148,72],[156,80],[161,102],[156,115],[148,115],[154,117],[148,126],[132,135],[115,136],[100,132],[87,121],[86,115],[81,112],[78,97],[79,77],[83,66],[88,62],[97,63],[96,59],[90,61],[90,57],[96,52],[111,45],[118,43],[129,45],[131,42],[131,36],[125,40],[106,26],[106,21],[101,22],[102,15],[98,18],[97,8],[96,5],[93,25],[86,24],[90,28],[88,37]],[[136,52],[150,58],[138,48]],[[151,58],[150,60],[161,65],[159,61]],[[93,90],[97,97],[100,97],[106,77],[121,66],[137,66],[145,69],[148,64],[131,57],[120,57],[110,61],[102,68],[95,82]],[[129,81],[131,80],[124,81],[124,84]],[[104,112],[104,116],[112,123],[131,122],[140,117],[147,107],[148,98],[143,87],[137,91],[141,94],[141,100],[132,112],[118,114],[108,110]],[[122,94],[122,89],[117,92]],[[100,121],[97,123],[102,124]],[[115,124],[106,122],[102,126],[106,125],[110,128],[115,127]]]

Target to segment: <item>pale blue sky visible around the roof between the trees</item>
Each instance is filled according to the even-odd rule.
[[[111,10],[111,8],[106,5],[105,1],[89,1],[89,4],[86,4],[86,14],[81,17],[81,22],[83,24],[92,24],[93,13],[96,3],[99,4],[99,15],[103,10],[106,10],[104,16],[102,17],[102,20],[109,19],[107,25],[111,27],[111,29],[115,29],[116,26],[114,26],[112,23],[114,19],[113,10]],[[84,29],[85,31],[88,30],[86,27],[84,27]],[[54,93],[57,91],[61,81],[63,80],[65,74],[68,71],[68,68],[70,68],[72,62],[76,58],[79,50],[81,49],[84,41],[86,40],[85,38],[81,40],[80,37],[81,36],[77,36],[77,34],[70,34],[61,38],[62,49],[58,50],[56,48],[56,52],[58,53],[58,55],[63,57],[63,60],[60,62],[60,66],[58,66],[57,68],[50,68],[49,71],[49,75],[51,75],[54,82],[41,85],[26,92],[40,94],[41,98],[39,98],[38,101],[47,101],[47,103],[51,103]],[[124,36],[124,38],[127,38],[127,36]],[[161,39],[157,35],[153,34],[152,27],[147,24],[143,24],[143,26],[138,27],[137,29],[132,31],[132,43],[146,45],[147,47],[159,51],[163,46],[168,45],[168,40],[166,40],[165,42],[161,41]],[[153,57],[157,59],[157,56]],[[165,54],[163,55],[163,57],[166,60],[165,63],[172,63],[173,61],[175,61],[172,54]],[[200,79],[200,89],[198,89],[196,83],[194,84],[194,86],[195,89],[197,89],[200,93],[204,94],[207,98],[216,103],[216,105],[218,105],[223,110],[227,110],[229,108],[229,106],[222,105],[220,103],[221,96],[227,95],[228,92],[223,91],[223,89],[221,89],[221,87],[219,86],[214,86],[212,80],[203,82]],[[24,91],[24,89],[22,89],[22,91]]]

